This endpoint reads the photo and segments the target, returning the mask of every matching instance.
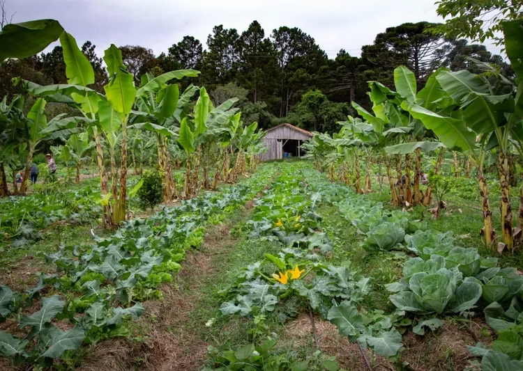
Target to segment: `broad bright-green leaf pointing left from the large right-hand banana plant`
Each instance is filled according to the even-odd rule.
[[[438,139],[450,150],[466,151],[476,147],[476,135],[471,132],[463,120],[439,116],[416,104],[402,103],[402,108],[411,116],[420,120],[427,129],[431,129]]]

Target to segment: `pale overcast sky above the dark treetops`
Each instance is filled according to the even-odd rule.
[[[340,49],[359,56],[377,33],[404,22],[441,22],[435,0],[6,0],[13,23],[58,19],[77,40],[96,45],[141,45],[158,55],[184,35],[204,47],[213,26],[245,31],[257,20],[268,36],[279,26],[299,27],[329,57]],[[487,44],[499,54],[499,48]]]

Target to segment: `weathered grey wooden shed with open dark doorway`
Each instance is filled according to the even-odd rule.
[[[261,161],[282,159],[283,157],[301,157],[301,143],[312,138],[312,133],[291,124],[283,123],[268,129],[264,143],[267,152],[260,155]],[[286,155],[287,154],[287,155]]]

